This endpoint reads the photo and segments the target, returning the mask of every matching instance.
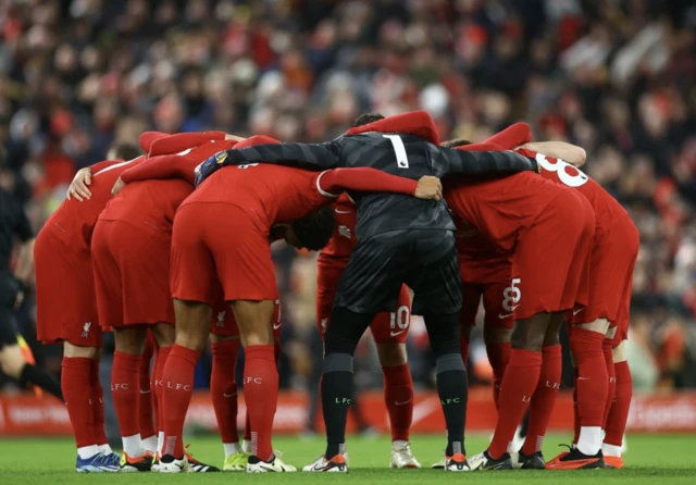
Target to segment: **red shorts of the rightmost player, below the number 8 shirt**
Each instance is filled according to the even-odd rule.
[[[607,319],[611,327],[617,326],[622,307],[631,304],[633,268],[639,244],[638,231],[627,215],[609,229],[595,234],[587,306],[575,310],[573,324]]]

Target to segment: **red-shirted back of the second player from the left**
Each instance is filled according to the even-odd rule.
[[[99,220],[123,221],[171,236],[174,214],[192,190],[191,184],[181,179],[127,184],[107,203]]]

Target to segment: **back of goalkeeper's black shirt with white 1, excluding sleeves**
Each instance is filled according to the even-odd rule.
[[[368,166],[413,181],[425,175],[442,177],[448,165],[438,160],[438,148],[405,134],[347,135],[341,142],[341,166]],[[358,238],[398,229],[449,229],[455,224],[443,202],[399,194],[351,192],[358,206]]]

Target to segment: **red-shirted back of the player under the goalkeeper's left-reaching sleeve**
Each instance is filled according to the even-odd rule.
[[[320,175],[263,163],[226,166],[201,184],[183,204],[229,203],[268,231],[274,224],[289,224],[328,202],[315,188]]]

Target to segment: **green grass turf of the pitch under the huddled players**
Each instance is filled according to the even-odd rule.
[[[548,436],[544,448],[547,458],[559,450],[556,445],[567,436]],[[246,473],[213,473],[199,475],[159,474],[89,474],[74,472],[75,451],[67,439],[0,439],[0,484],[159,484],[177,483],[256,483],[266,484],[283,481],[302,485],[324,484],[326,481],[350,481],[360,484],[415,484],[467,481],[467,483],[515,484],[521,481],[530,485],[538,483],[562,485],[575,484],[696,484],[696,461],[693,456],[693,435],[637,435],[629,437],[629,453],[624,470],[588,470],[574,472],[475,472],[457,474],[438,470],[388,470],[389,442],[386,438],[350,437],[348,449],[351,470],[348,476],[336,474],[275,474],[247,475]],[[467,446],[470,453],[481,451],[487,436],[471,436]],[[282,449],[286,462],[301,467],[322,452],[322,439],[281,437],[274,446]],[[412,449],[421,463],[430,467],[442,453],[443,439],[437,436],[414,436]],[[215,438],[195,437],[190,451],[202,461],[221,465],[222,446]],[[661,478],[669,482],[659,483]]]

